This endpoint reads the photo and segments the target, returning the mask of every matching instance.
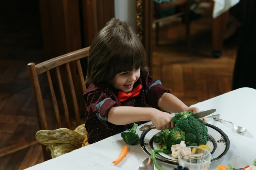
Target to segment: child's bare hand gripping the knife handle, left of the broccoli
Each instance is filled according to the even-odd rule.
[[[156,126],[157,130],[164,130],[174,127],[172,116],[167,112],[162,112],[157,109],[152,113],[151,121]]]

